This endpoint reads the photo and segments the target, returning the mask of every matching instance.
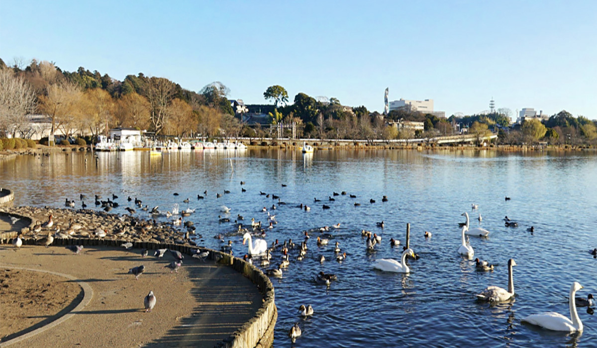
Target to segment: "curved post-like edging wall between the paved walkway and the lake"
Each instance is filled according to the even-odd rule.
[[[12,243],[11,238],[0,238],[0,244]],[[113,239],[92,239],[92,238],[54,238],[52,245],[84,245],[96,247],[120,247],[122,241]],[[35,245],[35,239],[23,239],[23,245]],[[225,264],[232,267],[237,272],[251,279],[253,284],[263,295],[263,304],[257,310],[256,315],[250,321],[245,323],[241,328],[234,332],[230,337],[227,337],[216,347],[221,348],[236,348],[236,347],[270,347],[273,343],[273,328],[278,319],[278,309],[274,303],[274,290],[272,282],[269,278],[261,272],[260,269],[252,264],[242,260],[238,257],[233,257],[230,254],[225,254],[221,251],[211,250],[207,248],[190,247],[189,245],[180,244],[159,244],[153,242],[133,242],[133,248],[145,248],[147,250],[157,250],[168,248],[171,250],[180,251],[183,254],[192,255],[196,250],[209,250],[209,258],[216,260],[220,264]]]

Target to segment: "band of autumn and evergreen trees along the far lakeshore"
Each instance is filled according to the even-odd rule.
[[[93,135],[109,128],[130,127],[176,137],[275,137],[271,127],[247,127],[235,116],[221,82],[202,90],[186,90],[166,78],[127,75],[122,81],[79,67],[61,70],[48,61],[32,60],[7,66],[0,59],[0,130],[26,134],[26,115],[41,113],[52,122],[52,131],[73,134],[88,130]],[[289,104],[287,90],[272,85],[263,93],[273,104],[248,105],[251,113],[267,113],[269,124],[294,124],[297,137],[321,139],[386,139],[436,137],[458,134],[456,125],[469,133],[487,135],[498,131],[501,143],[595,144],[597,121],[562,110],[547,121],[525,121],[509,127],[511,111],[506,108],[478,115],[449,118],[404,109],[388,115],[370,112],[365,106],[343,106],[337,98],[312,97],[298,93]],[[396,121],[423,122],[424,130],[392,127]],[[288,137],[291,131],[284,130]]]

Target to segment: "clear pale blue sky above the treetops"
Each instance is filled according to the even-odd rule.
[[[266,103],[282,85],[383,110],[534,107],[597,118],[597,1],[8,1],[0,57],[171,79]]]

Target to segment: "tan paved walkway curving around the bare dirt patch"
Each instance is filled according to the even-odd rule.
[[[142,258],[140,250],[63,247],[0,247],[0,267],[24,267],[70,275],[90,285],[93,296],[70,318],[9,347],[213,347],[252,318],[261,294],[230,267],[186,255],[179,273],[164,268],[173,259]],[[143,264],[136,280],[128,269]],[[156,306],[144,313],[152,290]]]

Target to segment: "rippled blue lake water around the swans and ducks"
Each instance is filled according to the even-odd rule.
[[[63,208],[68,198],[80,208],[79,193],[84,193],[89,199],[85,203],[95,207],[94,194],[105,199],[115,193],[121,206],[112,213],[126,213],[124,208],[133,206],[127,196],[162,211],[171,211],[174,204],[181,210],[190,207],[196,212],[188,219],[202,235],[198,245],[219,248],[213,236],[223,233],[239,257],[247,246],[242,236],[227,234],[235,230],[233,223],[219,223],[220,205],[232,208],[232,221],[240,214],[245,223],[254,217],[264,226],[267,214],[261,209],[267,207],[278,221],[267,230],[268,245],[288,238],[298,244],[304,230],[341,224],[330,230],[327,247],[318,248],[319,233],[311,233],[306,258],[297,261],[298,250],[291,250],[290,267],[281,279],[272,279],[279,311],[276,347],[291,346],[287,332],[295,322],[303,330],[297,347],[597,347],[597,318],[586,308],[578,310],[581,334],[521,324],[538,312],[570,316],[565,296],[574,281],[584,286],[579,296],[597,295],[597,260],[589,254],[597,248],[595,153],[205,150],[151,158],[146,152],[98,155],[97,167],[90,153],[0,162],[0,186],[15,190],[15,205]],[[241,192],[240,181],[246,181],[242,187],[247,192]],[[206,198],[198,200],[204,190]],[[224,190],[230,193],[217,199],[216,193]],[[278,205],[260,191],[278,195],[286,204]],[[329,201],[341,191],[347,195]],[[381,202],[383,195],[388,202]],[[182,202],[187,197],[188,205]],[[371,198],[376,203],[370,204]],[[312,209],[300,210],[301,203]],[[323,204],[331,208],[322,210]],[[478,211],[471,204],[478,204]],[[476,272],[474,261],[457,254],[457,223],[464,221],[460,215],[465,211],[472,227],[481,213],[481,226],[491,232],[490,238],[471,238],[470,244],[475,257],[497,264],[493,272]],[[519,227],[504,227],[504,215]],[[383,230],[376,227],[382,220]],[[409,262],[411,273],[373,270],[377,258],[399,259],[402,248],[391,248],[389,239],[404,244],[407,223],[411,248],[421,257]],[[375,252],[367,252],[362,229],[382,236]],[[426,230],[432,238],[424,238]],[[334,256],[336,241],[347,254],[341,263]],[[327,261],[320,264],[319,255]],[[276,251],[272,260],[278,263],[279,257]],[[475,294],[488,285],[507,288],[509,258],[518,264],[513,272],[516,299],[498,306],[478,303]],[[320,270],[335,273],[338,280],[329,288],[315,284]],[[311,304],[315,315],[301,319],[301,304]]]

